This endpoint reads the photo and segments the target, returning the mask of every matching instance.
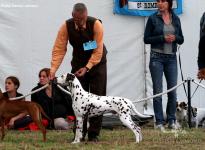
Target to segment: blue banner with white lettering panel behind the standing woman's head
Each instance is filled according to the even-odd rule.
[[[113,12],[116,14],[150,16],[156,10],[156,0],[114,0]],[[173,10],[182,14],[182,0],[173,0]]]

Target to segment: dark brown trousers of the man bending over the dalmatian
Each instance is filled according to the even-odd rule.
[[[72,70],[74,73],[74,70]],[[105,96],[107,86],[107,64],[106,62],[94,66],[84,77],[78,78],[83,89],[87,92]],[[99,136],[102,126],[102,116],[95,116],[89,119],[88,138]],[[83,124],[83,137],[87,132],[87,118]]]

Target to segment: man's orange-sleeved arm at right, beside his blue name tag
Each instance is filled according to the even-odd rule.
[[[94,24],[94,40],[97,42],[97,48],[93,50],[93,53],[86,65],[88,69],[97,65],[101,61],[103,55],[103,26],[99,20]]]

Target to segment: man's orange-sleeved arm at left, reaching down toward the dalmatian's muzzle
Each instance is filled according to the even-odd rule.
[[[66,22],[61,26],[52,50],[50,78],[55,77],[55,73],[61,65],[67,51],[68,32]]]

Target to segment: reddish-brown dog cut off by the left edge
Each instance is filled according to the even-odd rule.
[[[5,136],[5,120],[17,116],[20,113],[25,113],[26,115],[31,116],[32,120],[38,125],[43,133],[43,141],[46,141],[46,129],[41,122],[41,114],[43,114],[49,120],[50,118],[45,114],[42,107],[35,102],[16,100],[10,101],[8,98],[3,96],[3,93],[0,89],[0,126],[2,133],[1,140],[3,140]]]

